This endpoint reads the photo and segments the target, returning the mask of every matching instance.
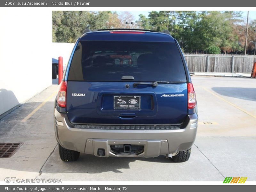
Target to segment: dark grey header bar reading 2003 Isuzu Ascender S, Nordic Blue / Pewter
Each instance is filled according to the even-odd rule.
[[[4,0],[0,7],[256,7],[252,0]]]

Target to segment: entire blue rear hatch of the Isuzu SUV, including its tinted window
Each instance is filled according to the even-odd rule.
[[[185,69],[174,42],[77,44],[67,82],[73,124],[182,124],[187,102]]]

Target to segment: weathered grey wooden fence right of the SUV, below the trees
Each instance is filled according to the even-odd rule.
[[[184,54],[190,72],[251,73],[256,56]]]

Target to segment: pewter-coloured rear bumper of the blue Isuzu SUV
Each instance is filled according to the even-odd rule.
[[[65,113],[54,108],[54,129],[57,141],[63,148],[98,156],[98,149],[105,149],[108,156],[144,156],[174,154],[189,149],[196,138],[198,116],[188,115],[182,129],[88,129],[73,128]],[[139,155],[114,154],[110,145],[143,145]]]

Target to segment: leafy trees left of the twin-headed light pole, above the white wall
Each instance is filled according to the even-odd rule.
[[[126,21],[134,22],[134,16],[127,11],[121,14],[111,11],[53,11],[52,41],[75,42],[85,28],[129,28]],[[138,24],[132,28],[138,28]]]

